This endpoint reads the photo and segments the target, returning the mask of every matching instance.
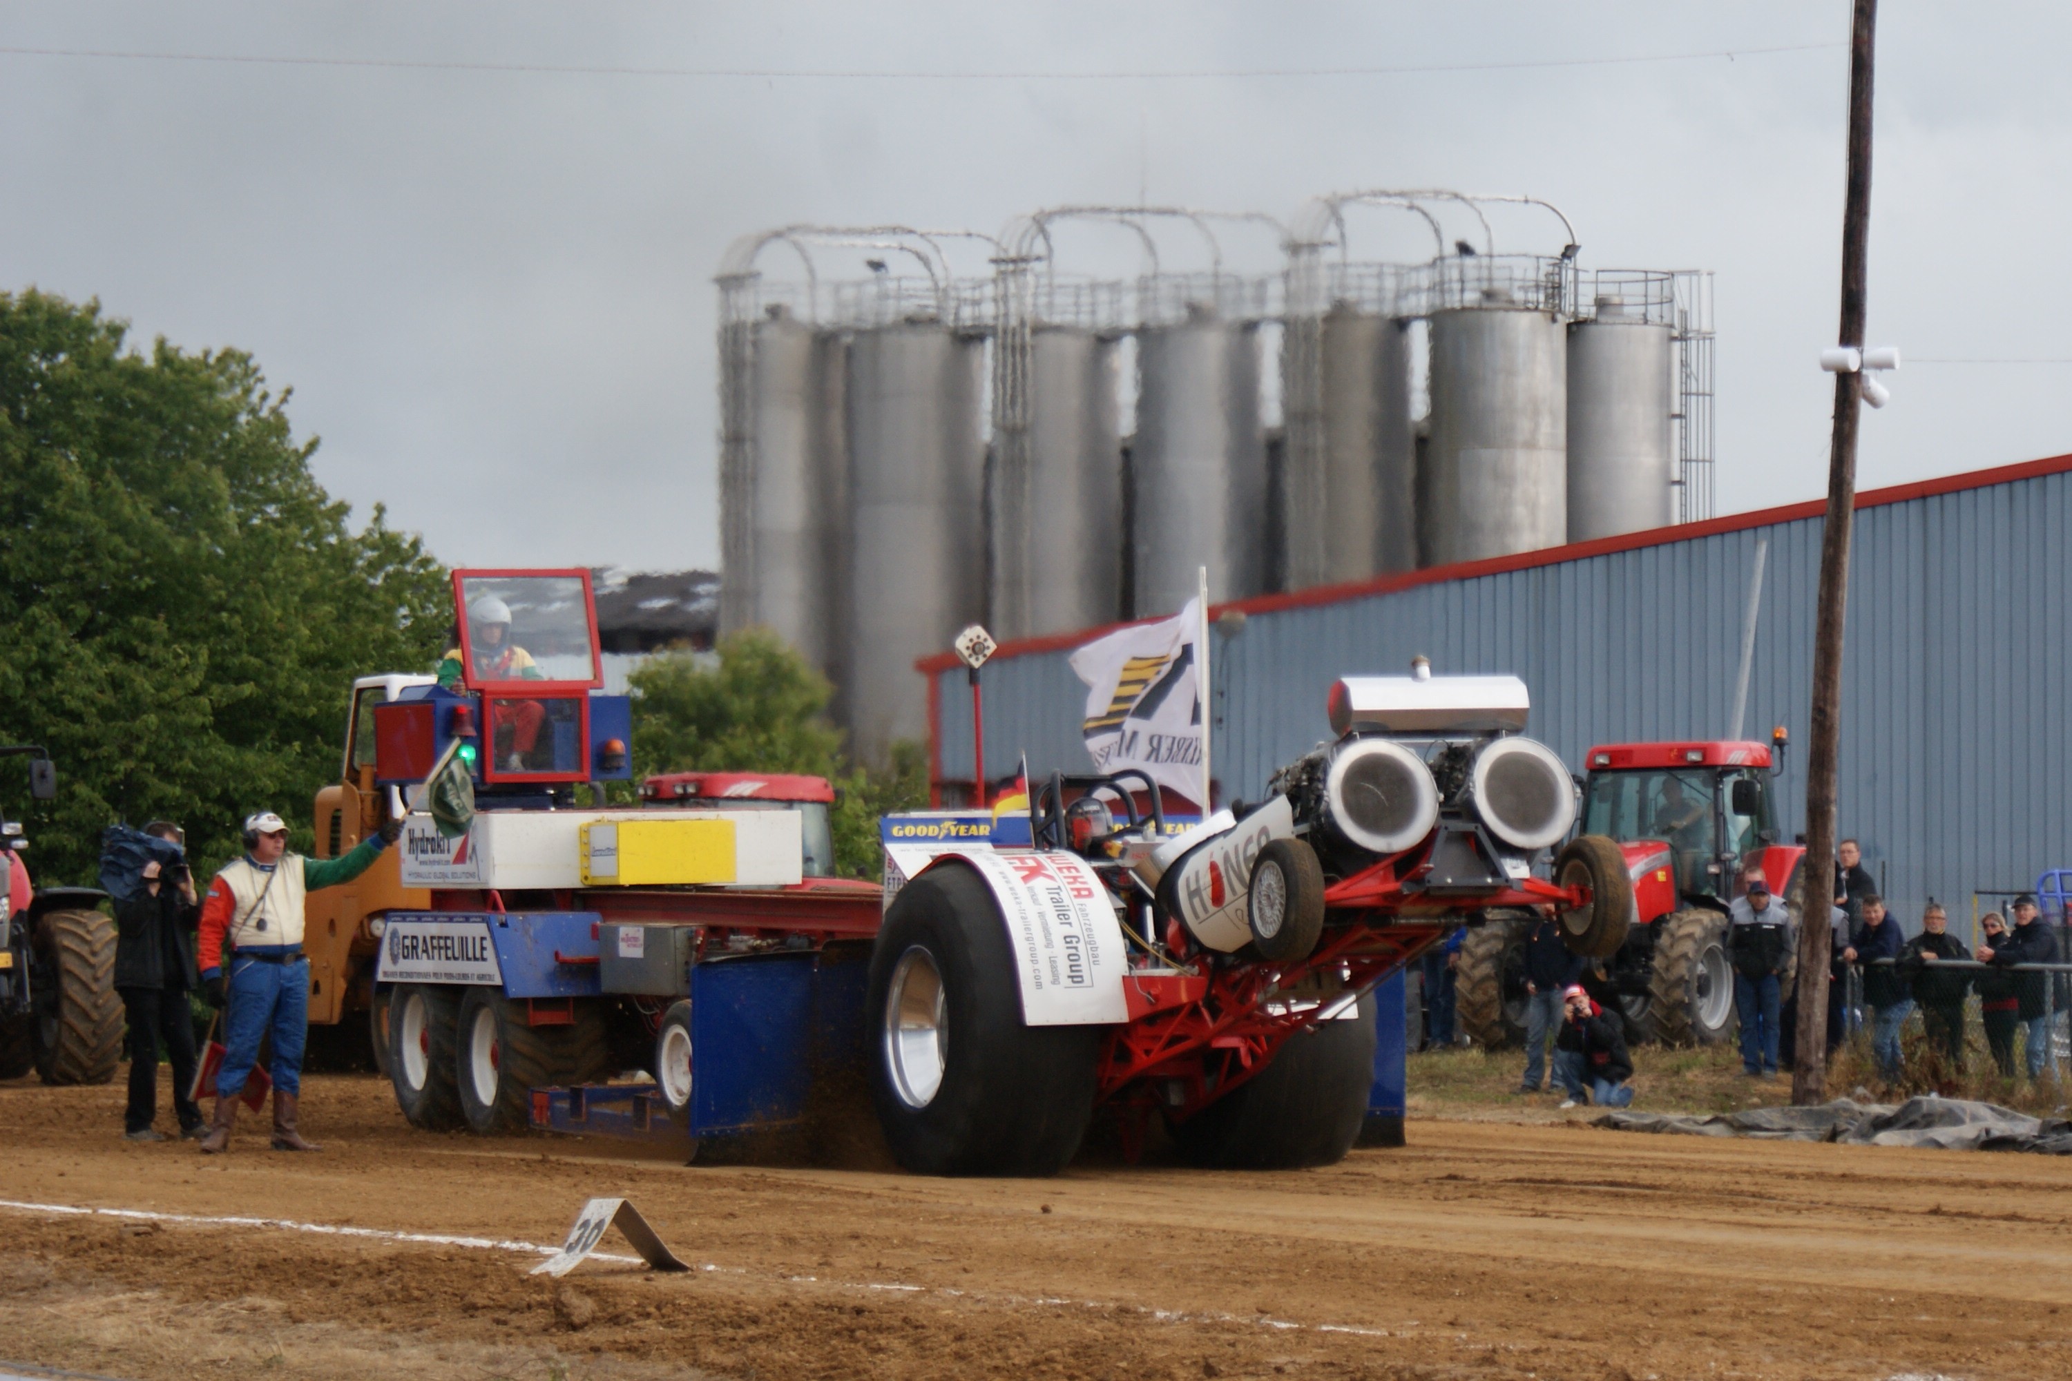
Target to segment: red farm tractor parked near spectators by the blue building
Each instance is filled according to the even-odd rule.
[[[1740,876],[1761,865],[1796,921],[1805,849],[1778,843],[1776,774],[1784,729],[1769,743],[1600,743],[1589,750],[1581,828],[1618,843],[1633,882],[1633,925],[1606,957],[1606,979],[1637,1039],[1709,1046],[1734,1031],[1728,907]],[[1525,1037],[1523,919],[1477,928],[1461,944],[1457,1002],[1471,1037],[1496,1048]],[[1784,996],[1796,977],[1796,950]]]

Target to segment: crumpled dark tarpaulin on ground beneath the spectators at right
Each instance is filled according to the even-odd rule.
[[[2072,1122],[2033,1118],[1962,1097],[1910,1097],[1898,1108],[1838,1097],[1813,1108],[1749,1108],[1714,1116],[1616,1110],[1595,1120],[1618,1133],[1678,1137],[1751,1137],[1757,1141],[1844,1141],[1939,1151],[2037,1151],[2072,1155]]]

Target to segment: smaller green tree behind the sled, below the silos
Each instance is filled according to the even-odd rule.
[[[920,745],[895,750],[889,772],[864,772],[827,723],[833,685],[777,634],[750,627],[719,640],[719,656],[665,652],[628,677],[634,776],[653,772],[800,772],[835,785],[835,868],[876,878],[879,816],[928,799]]]

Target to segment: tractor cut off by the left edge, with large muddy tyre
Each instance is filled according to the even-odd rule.
[[[0,747],[29,758],[29,795],[58,795],[58,768],[33,743]],[[0,818],[0,1079],[31,1068],[44,1083],[108,1083],[122,1056],[122,998],[114,990],[116,928],[89,886],[29,880],[21,822]]]

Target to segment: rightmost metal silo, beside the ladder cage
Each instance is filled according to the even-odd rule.
[[[1569,540],[1676,522],[1674,340],[1660,294],[1598,294],[1569,323]]]

